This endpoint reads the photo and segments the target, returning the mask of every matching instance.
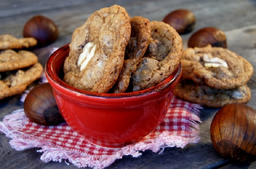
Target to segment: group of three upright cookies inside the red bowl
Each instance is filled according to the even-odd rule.
[[[150,88],[178,67],[182,39],[168,24],[130,18],[118,5],[94,12],[74,30],[64,81],[100,93]]]

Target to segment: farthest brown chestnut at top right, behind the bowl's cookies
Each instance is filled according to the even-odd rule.
[[[163,22],[173,27],[178,34],[186,34],[195,27],[195,15],[189,10],[177,9],[166,15]]]

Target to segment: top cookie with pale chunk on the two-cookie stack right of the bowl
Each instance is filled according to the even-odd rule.
[[[243,86],[253,74],[245,58],[222,47],[187,48],[182,55],[182,77],[217,89]]]

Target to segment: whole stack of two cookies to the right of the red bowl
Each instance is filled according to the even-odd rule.
[[[246,103],[253,66],[221,47],[187,48],[182,54],[182,79],[174,89],[181,99],[207,107]]]

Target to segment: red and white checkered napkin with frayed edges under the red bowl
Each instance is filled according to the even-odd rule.
[[[199,141],[198,117],[201,107],[173,98],[164,121],[143,140],[122,148],[102,148],[89,143],[67,123],[57,126],[35,124],[25,116],[24,110],[16,110],[0,122],[0,132],[10,137],[10,145],[16,150],[40,148],[45,162],[66,160],[77,167],[105,168],[123,155],[138,157],[142,151],[161,153],[166,147],[184,148]]]

